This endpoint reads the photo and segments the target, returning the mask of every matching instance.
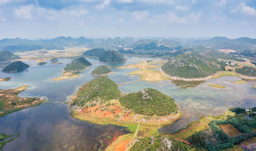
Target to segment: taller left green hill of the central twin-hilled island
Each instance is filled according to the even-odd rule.
[[[100,76],[81,86],[75,96],[71,104],[84,107],[87,102],[92,104],[92,101],[105,102],[110,99],[119,99],[121,95],[115,82],[107,76]]]

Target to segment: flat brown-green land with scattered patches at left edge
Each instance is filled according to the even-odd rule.
[[[27,107],[40,105],[44,102],[37,97],[20,98],[18,94],[27,89],[27,87],[28,85],[24,85],[15,89],[0,90],[0,117],[4,117],[5,115]]]

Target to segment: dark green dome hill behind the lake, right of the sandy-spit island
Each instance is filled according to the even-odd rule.
[[[117,51],[114,51],[114,50],[109,50],[109,51],[105,51],[100,56],[99,60],[101,62],[106,62],[106,63],[116,63],[116,62],[124,62],[127,59],[120,52],[117,52]]]

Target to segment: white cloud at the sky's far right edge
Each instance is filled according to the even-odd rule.
[[[231,13],[240,12],[243,15],[247,16],[256,16],[256,9],[250,6],[246,6],[245,3],[241,2],[237,5],[237,7],[233,10],[230,10]]]

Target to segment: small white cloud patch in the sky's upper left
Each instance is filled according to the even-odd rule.
[[[32,11],[35,10],[34,5],[26,5],[26,6],[20,6],[19,9],[15,8],[15,13],[17,16],[22,17],[24,19],[31,19]]]

